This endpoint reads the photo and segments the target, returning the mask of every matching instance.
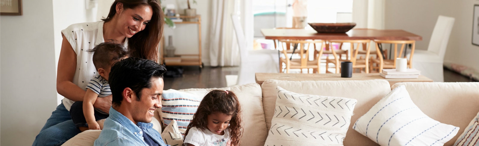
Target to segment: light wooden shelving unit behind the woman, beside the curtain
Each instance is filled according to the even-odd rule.
[[[180,16],[180,17],[168,17],[168,18],[181,18],[182,22],[174,22],[175,24],[198,24],[198,54],[175,54],[175,58],[180,57],[181,62],[165,62],[170,57],[166,57],[165,50],[163,45],[164,40],[162,40],[162,47],[160,48],[161,63],[170,66],[199,66],[203,67],[203,62],[201,60],[201,16]],[[196,21],[185,21],[185,18],[196,18]]]

